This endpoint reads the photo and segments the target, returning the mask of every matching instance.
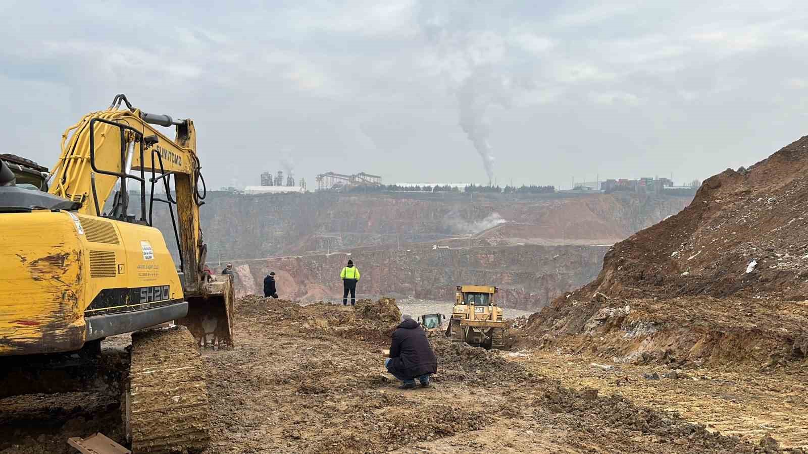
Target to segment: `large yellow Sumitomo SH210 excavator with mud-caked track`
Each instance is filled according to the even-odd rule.
[[[156,126],[173,126],[175,138]],[[54,356],[99,352],[103,338],[175,321],[187,330],[133,334],[127,436],[135,452],[204,448],[208,397],[196,347],[232,345],[234,289],[229,276],[205,272],[200,170],[191,120],[146,113],[124,95],[65,131],[49,174],[0,156],[0,397],[64,391],[65,374],[48,370],[60,364]],[[179,267],[152,226],[155,202],[170,213]],[[35,377],[24,380],[31,364]]]

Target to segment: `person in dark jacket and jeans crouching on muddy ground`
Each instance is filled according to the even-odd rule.
[[[409,315],[402,315],[402,322],[393,332],[385,366],[387,372],[402,381],[401,389],[415,389],[416,378],[425,388],[431,374],[438,372],[438,359],[429,346],[427,332]]]

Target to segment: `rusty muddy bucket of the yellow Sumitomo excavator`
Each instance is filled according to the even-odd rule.
[[[200,347],[233,347],[233,281],[226,275],[213,275],[202,284],[199,294],[185,296],[188,314],[177,320],[187,326]]]

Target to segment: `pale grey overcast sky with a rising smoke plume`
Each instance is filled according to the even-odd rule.
[[[0,152],[46,166],[116,93],[192,118],[214,188],[684,182],[808,133],[804,1],[68,3],[0,0]]]

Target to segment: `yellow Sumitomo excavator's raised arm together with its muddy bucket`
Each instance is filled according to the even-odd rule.
[[[120,108],[121,103],[125,108]],[[174,126],[175,138],[166,137],[155,126]],[[107,110],[87,114],[62,134],[61,155],[48,191],[81,203],[78,212],[82,214],[146,225],[152,224],[154,201],[176,204],[177,216],[171,211],[171,219],[183,293],[189,301],[188,316],[179,322],[200,343],[232,343],[232,283],[227,277],[208,282],[204,272],[207,246],[200,228],[200,206],[206,189],[200,169],[191,120],[146,113],[117,95]],[[105,212],[116,185],[120,189],[112,209]],[[130,214],[128,189],[135,185],[140,189],[140,210]],[[156,185],[165,189],[167,200],[154,198]]]

